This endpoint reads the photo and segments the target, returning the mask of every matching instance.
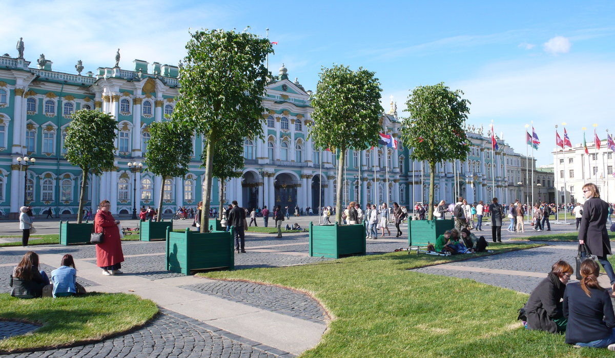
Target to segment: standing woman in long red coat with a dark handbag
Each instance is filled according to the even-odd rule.
[[[100,202],[94,217],[94,232],[103,233],[103,242],[96,245],[96,266],[103,269],[103,275],[121,274],[124,253],[119,239],[119,228],[113,215],[109,212],[111,204],[107,200]]]

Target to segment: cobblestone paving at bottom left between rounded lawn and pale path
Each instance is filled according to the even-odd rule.
[[[295,357],[163,309],[143,328],[99,343],[6,357]]]

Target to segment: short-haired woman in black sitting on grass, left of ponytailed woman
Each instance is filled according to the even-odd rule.
[[[560,302],[566,290],[566,284],[573,274],[573,268],[566,261],[560,260],[551,267],[547,278],[543,279],[525,304],[524,322],[528,330],[541,330],[560,333],[566,330],[568,320],[564,317]]]

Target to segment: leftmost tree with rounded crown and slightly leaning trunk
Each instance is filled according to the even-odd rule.
[[[103,170],[115,170],[114,140],[117,121],[111,114],[81,109],[73,113],[73,119],[66,129],[64,148],[66,161],[81,168],[81,193],[77,223],[83,220],[83,204],[87,176],[100,175]]]

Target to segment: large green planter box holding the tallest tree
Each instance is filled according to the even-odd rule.
[[[234,228],[228,233],[183,233],[167,229],[167,270],[189,275],[206,269],[234,269]]]

